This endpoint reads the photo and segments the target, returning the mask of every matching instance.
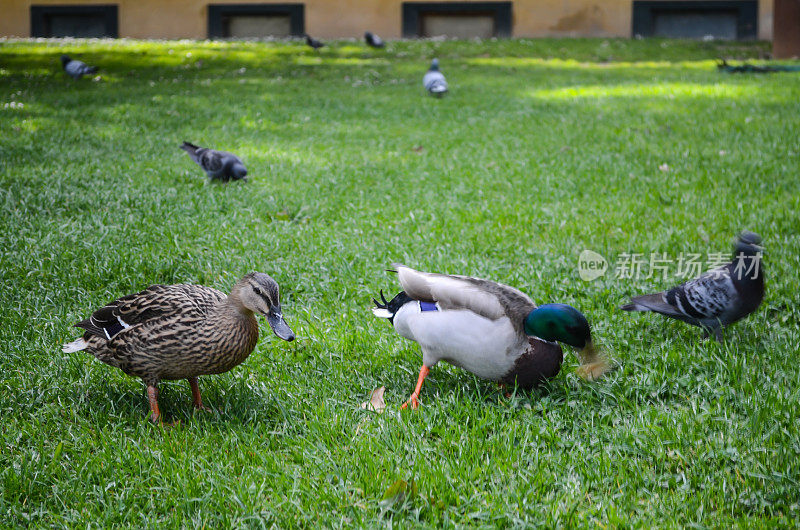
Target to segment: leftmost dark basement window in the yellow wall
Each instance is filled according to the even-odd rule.
[[[31,37],[118,37],[116,5],[31,6]]]

